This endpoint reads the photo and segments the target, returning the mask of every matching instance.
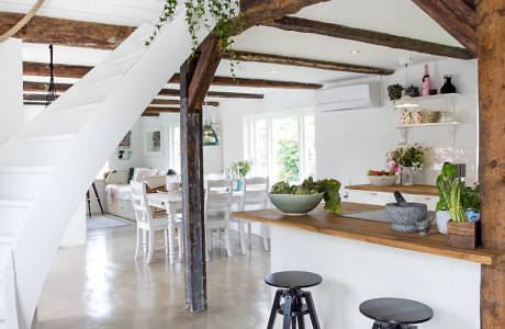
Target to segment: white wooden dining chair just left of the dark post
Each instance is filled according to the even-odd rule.
[[[155,251],[155,234],[162,230],[165,234],[165,252],[168,253],[168,217],[153,217],[152,209],[147,202],[146,183],[131,181],[132,203],[137,219],[137,243],[135,248],[135,259],[141,253],[144,246],[144,237],[147,235],[147,263],[153,262]],[[143,248],[144,249],[144,248]]]

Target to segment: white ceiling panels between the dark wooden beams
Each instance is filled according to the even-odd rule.
[[[34,2],[35,0],[0,0],[0,11],[26,12]],[[70,20],[139,25],[156,22],[162,4],[164,0],[46,0],[38,14]],[[459,46],[457,41],[409,0],[332,0],[307,7],[295,15]],[[415,64],[441,58],[268,26],[249,29],[235,39],[235,48],[240,50],[390,69],[399,68],[402,57],[411,57]],[[350,50],[359,50],[360,53],[352,55]],[[96,65],[106,54],[109,54],[108,50],[55,46],[55,63]],[[23,59],[47,61],[47,45],[25,44]],[[217,75],[229,76],[227,60],[222,61]],[[282,65],[240,63],[237,76],[240,78],[323,83],[354,78],[357,75]],[[220,89],[231,90],[231,88]],[[246,92],[242,88],[239,90]]]

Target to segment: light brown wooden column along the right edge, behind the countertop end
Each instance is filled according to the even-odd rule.
[[[505,1],[476,1],[482,243],[505,250]],[[481,328],[505,328],[505,263],[482,266]]]

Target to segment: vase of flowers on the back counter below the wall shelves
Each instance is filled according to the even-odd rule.
[[[400,146],[388,152],[388,163],[394,171],[400,172],[401,184],[414,184],[414,173],[424,166],[428,149],[416,143],[414,146]]]

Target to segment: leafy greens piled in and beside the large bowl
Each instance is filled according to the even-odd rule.
[[[324,193],[324,208],[335,214],[340,213],[340,182],[334,179],[323,179],[314,181],[312,177],[307,178],[300,185],[290,185],[289,182],[278,182],[272,185],[272,194],[294,194],[306,195]]]

